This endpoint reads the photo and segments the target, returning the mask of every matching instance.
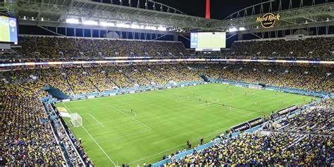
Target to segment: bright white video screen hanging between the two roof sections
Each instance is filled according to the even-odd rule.
[[[192,32],[190,47],[197,51],[220,51],[226,47],[225,32]]]

